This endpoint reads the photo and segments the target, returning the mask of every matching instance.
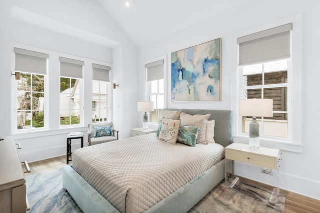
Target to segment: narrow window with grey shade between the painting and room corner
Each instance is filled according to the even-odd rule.
[[[149,122],[157,123],[159,110],[164,108],[163,60],[145,64],[147,99],[154,103],[154,111],[150,112]]]

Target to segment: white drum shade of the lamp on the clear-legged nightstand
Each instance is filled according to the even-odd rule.
[[[252,117],[272,117],[272,99],[242,99],[239,101],[239,115]]]

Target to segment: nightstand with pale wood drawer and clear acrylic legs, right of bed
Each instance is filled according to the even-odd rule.
[[[246,164],[252,164],[255,166],[260,166],[262,168],[266,168],[268,170],[263,170],[265,174],[272,174],[272,170],[277,170],[279,166],[280,160],[280,150],[269,148],[269,147],[259,147],[258,149],[251,149],[249,148],[248,144],[243,143],[232,143],[225,147],[225,159],[232,160],[232,172],[231,174],[227,174],[227,168],[225,165],[225,183],[228,184],[227,180],[229,178],[234,179],[233,182],[230,184],[230,188],[236,184],[238,181],[238,177],[234,174],[234,161],[246,163]],[[277,199],[278,193],[279,193],[279,169],[277,172],[277,188],[273,189],[274,193],[277,193],[277,195],[271,195],[270,203],[277,203],[278,200],[274,200],[272,196],[275,196]]]

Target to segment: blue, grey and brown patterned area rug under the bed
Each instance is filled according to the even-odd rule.
[[[61,169],[27,176],[26,194],[29,213],[81,213],[82,211],[62,190]],[[223,181],[211,190],[188,213],[283,213],[284,196],[280,203],[268,202],[271,192],[238,182],[232,189]]]

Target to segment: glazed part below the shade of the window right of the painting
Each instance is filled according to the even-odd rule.
[[[273,99],[273,117],[258,117],[261,136],[288,137],[288,59],[242,66],[240,99]],[[241,72],[241,69],[240,69]],[[242,133],[248,133],[251,117],[242,116]]]

